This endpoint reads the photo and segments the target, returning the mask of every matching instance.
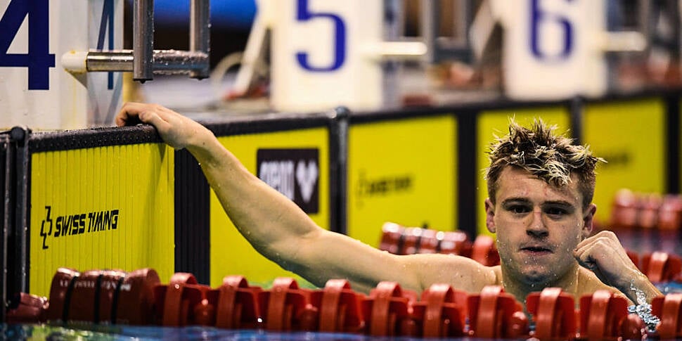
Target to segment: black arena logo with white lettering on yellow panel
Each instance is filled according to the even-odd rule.
[[[320,157],[317,148],[259,149],[259,179],[296,203],[306,213],[319,212]]]

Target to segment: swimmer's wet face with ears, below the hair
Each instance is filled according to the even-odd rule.
[[[583,210],[572,179],[555,188],[525,170],[503,170],[495,204],[486,201],[486,223],[497,235],[504,276],[552,285],[577,269],[573,250],[591,232],[594,206]]]

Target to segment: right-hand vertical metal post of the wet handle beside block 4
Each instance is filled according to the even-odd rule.
[[[210,1],[191,0],[189,46],[192,52],[204,52],[210,56]],[[193,70],[190,77],[202,79],[209,76],[208,65],[201,70]]]

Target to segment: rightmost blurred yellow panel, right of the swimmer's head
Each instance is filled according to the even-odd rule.
[[[588,103],[584,143],[608,163],[597,167],[596,220],[608,225],[615,193],[664,193],[665,103],[662,98]]]

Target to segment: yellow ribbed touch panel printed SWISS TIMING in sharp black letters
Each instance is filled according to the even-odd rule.
[[[33,153],[29,290],[59,267],[174,272],[174,152],[163,143]]]

